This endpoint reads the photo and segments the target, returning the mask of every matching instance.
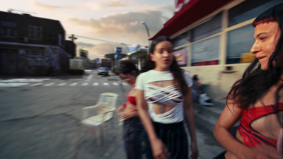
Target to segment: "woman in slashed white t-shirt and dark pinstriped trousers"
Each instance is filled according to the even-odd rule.
[[[137,109],[149,143],[147,158],[188,157],[187,134],[190,131],[193,159],[198,157],[192,107],[192,78],[183,71],[173,55],[168,37],[151,43],[144,73],[137,77]]]

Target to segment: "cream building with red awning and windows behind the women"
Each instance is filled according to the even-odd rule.
[[[281,0],[176,0],[175,14],[151,37],[171,37],[175,57],[212,99],[223,101],[254,56],[253,20]]]

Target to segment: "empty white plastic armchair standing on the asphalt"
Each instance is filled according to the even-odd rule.
[[[117,98],[116,93],[101,93],[96,105],[83,107],[81,124],[86,126],[86,129],[95,131],[98,148],[103,148],[105,145],[105,123],[113,118]]]

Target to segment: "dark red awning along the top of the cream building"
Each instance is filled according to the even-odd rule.
[[[149,40],[154,40],[161,35],[170,37],[179,30],[194,23],[196,20],[199,20],[225,4],[228,4],[230,1],[233,0],[190,0],[190,2],[183,6],[184,8],[175,13],[171,19],[164,23],[163,28]]]

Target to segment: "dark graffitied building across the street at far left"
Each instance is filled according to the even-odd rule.
[[[46,76],[67,73],[71,54],[58,20],[0,11],[0,74]]]

